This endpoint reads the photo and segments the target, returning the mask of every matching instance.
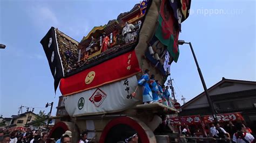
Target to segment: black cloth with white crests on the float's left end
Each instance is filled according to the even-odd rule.
[[[45,55],[49,62],[51,74],[54,78],[54,89],[56,93],[60,78],[64,77],[64,71],[58,51],[55,28],[51,27],[48,33],[40,42],[44,48]]]

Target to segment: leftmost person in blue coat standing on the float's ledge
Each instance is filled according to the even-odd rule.
[[[140,77],[140,79],[138,81],[138,85],[142,85],[144,87],[144,90],[143,90],[144,104],[153,103],[152,91],[149,87],[149,81],[150,81],[149,74],[150,74],[149,69],[146,69],[145,74],[142,77]]]

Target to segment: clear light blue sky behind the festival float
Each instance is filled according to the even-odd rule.
[[[0,115],[16,115],[21,105],[57,106],[53,77],[39,41],[51,26],[80,41],[94,27],[116,19],[139,1],[0,1]],[[193,1],[179,39],[191,41],[207,87],[222,77],[256,81],[255,1]],[[179,47],[171,76],[177,99],[203,91],[188,45]],[[23,108],[23,111],[25,108]],[[53,108],[53,115],[56,109]]]

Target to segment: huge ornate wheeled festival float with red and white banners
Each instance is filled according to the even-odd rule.
[[[69,118],[60,118],[51,138],[82,131],[94,142],[118,142],[136,132],[139,142],[169,140],[154,131],[163,115],[178,111],[154,102],[143,104],[138,80],[148,69],[164,84],[179,57],[178,36],[190,0],[142,1],[103,26],[93,27],[80,42],[51,27],[41,40]],[[161,140],[161,141],[160,141]]]

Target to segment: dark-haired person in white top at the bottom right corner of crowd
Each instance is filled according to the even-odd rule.
[[[251,135],[250,133],[246,133],[246,127],[244,124],[237,123],[237,125],[235,126],[237,127],[238,132],[234,133],[233,135],[234,142],[247,143],[254,140],[253,135]]]

